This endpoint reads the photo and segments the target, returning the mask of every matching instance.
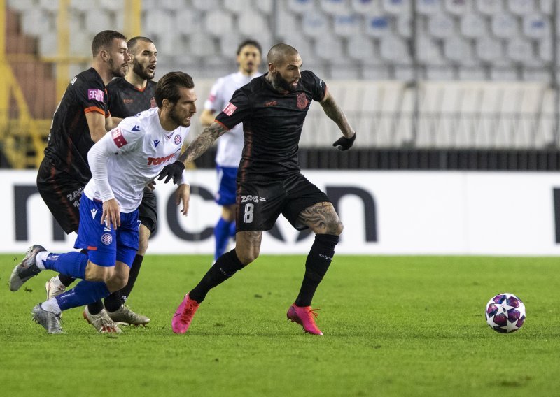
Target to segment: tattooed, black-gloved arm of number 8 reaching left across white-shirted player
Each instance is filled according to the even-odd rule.
[[[216,139],[227,131],[228,129],[218,122],[214,122],[210,127],[206,127],[202,133],[190,143],[187,150],[181,153],[177,161],[163,167],[158,180],[165,178],[165,183],[169,182],[169,180],[173,180],[176,185],[179,184],[185,165],[200,157],[202,153],[206,152],[208,148],[211,147]]]

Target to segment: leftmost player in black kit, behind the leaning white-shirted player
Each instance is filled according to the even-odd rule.
[[[92,178],[87,152],[120,122],[109,112],[106,85],[123,77],[130,62],[126,37],[118,31],[96,34],[92,55],[92,67],[70,81],[55,110],[37,174],[38,191],[67,234],[78,231],[80,197]],[[94,322],[106,331],[120,331],[105,311]]]

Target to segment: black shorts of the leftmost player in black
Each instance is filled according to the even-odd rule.
[[[48,209],[62,229],[70,234],[78,231],[80,197],[85,181],[60,171],[45,157],[37,173],[37,189]]]

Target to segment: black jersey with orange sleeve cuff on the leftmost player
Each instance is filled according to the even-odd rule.
[[[91,178],[87,152],[93,146],[85,114],[101,113],[109,117],[105,84],[94,68],[76,75],[55,110],[45,157],[52,164],[85,185]]]

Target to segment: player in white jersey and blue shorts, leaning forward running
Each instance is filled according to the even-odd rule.
[[[127,117],[90,149],[92,179],[80,199],[74,243],[87,254],[52,254],[33,245],[14,268],[9,282],[12,291],[45,269],[83,280],[33,308],[32,318],[48,333],[62,333],[63,310],[87,305],[125,287],[138,249],[138,207],[144,187],[181,154],[190,118],[196,113],[194,87],[186,73],[167,73],[155,88],[158,108]],[[185,173],[174,182],[179,185],[176,203],[183,203],[181,212],[187,215],[190,186]]]

